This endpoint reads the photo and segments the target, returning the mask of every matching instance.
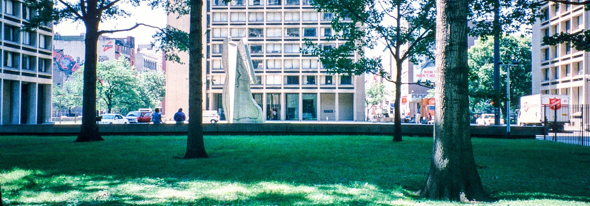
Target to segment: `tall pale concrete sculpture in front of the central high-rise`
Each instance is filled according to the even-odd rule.
[[[222,102],[227,122],[263,123],[262,108],[250,91],[250,84],[257,84],[257,81],[245,39],[225,38],[221,58],[225,69]]]

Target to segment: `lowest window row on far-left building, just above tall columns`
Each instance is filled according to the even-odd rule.
[[[47,72],[51,69],[51,59],[37,58],[31,55],[19,54],[17,52],[4,51],[4,67],[40,72]]]

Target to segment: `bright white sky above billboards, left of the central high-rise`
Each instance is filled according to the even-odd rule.
[[[152,26],[164,28],[166,26],[166,13],[163,9],[154,9],[148,5],[141,5],[133,7],[130,5],[121,5],[123,9],[130,12],[132,15],[127,18],[119,18],[116,20],[109,20],[100,23],[100,29],[126,29],[135,25],[136,23],[144,23]],[[54,32],[59,32],[61,35],[80,35],[84,33],[86,28],[80,22],[62,22],[54,25]],[[152,42],[152,35],[156,34],[158,29],[140,26],[132,31],[117,32],[114,34],[106,34],[110,37],[135,37],[135,44],[150,44]]]

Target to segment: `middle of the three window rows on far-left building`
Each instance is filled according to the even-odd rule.
[[[21,31],[18,26],[4,24],[4,40],[15,42],[17,44],[25,44],[30,46],[38,46],[39,48],[51,48],[51,36],[37,34],[30,31]],[[38,44],[37,44],[38,43]]]

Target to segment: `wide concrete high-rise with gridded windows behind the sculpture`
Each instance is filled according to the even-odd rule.
[[[258,84],[255,101],[267,120],[362,121],[363,76],[328,74],[318,58],[300,53],[304,39],[324,48],[334,34],[331,13],[317,12],[310,0],[205,1],[203,37],[204,109],[223,113],[222,42],[246,38]],[[168,24],[188,31],[188,16],[168,16]],[[188,54],[181,54],[188,61]],[[358,57],[351,57],[358,58]],[[188,65],[166,62],[166,111],[188,107]],[[169,117],[167,117],[169,118]]]

